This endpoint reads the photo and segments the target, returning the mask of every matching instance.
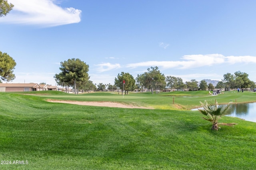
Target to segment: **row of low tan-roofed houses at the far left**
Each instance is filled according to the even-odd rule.
[[[0,83],[0,92],[31,92],[57,89],[57,86],[37,83]]]

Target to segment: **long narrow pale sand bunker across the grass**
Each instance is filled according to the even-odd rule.
[[[78,102],[78,101],[65,101],[65,100],[47,100],[47,102],[77,104],[77,105],[85,105],[85,106],[121,107],[121,108],[132,108],[132,109],[133,108],[153,109],[151,107],[132,106],[132,105],[115,103],[115,102]]]

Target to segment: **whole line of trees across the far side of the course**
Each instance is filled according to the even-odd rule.
[[[68,87],[73,87],[75,90],[75,94],[78,94],[78,89],[82,91],[90,91],[90,90],[121,90],[122,94],[128,94],[129,91],[133,91],[135,89],[144,92],[151,91],[159,93],[161,90],[173,89],[176,90],[213,90],[224,89],[230,90],[230,88],[254,88],[255,82],[251,81],[248,78],[248,74],[245,72],[237,71],[234,74],[224,74],[223,80],[218,82],[216,87],[213,84],[202,80],[198,86],[198,82],[195,79],[190,81],[183,82],[182,78],[175,76],[164,76],[163,73],[160,72],[157,66],[150,67],[147,69],[147,72],[143,74],[138,74],[137,77],[134,77],[128,72],[118,73],[117,77],[114,79],[114,85],[112,84],[103,84],[99,83],[98,85],[93,84],[92,81],[89,80],[90,76],[88,76],[89,66],[80,61],[80,59],[68,59],[68,61],[61,62],[61,67],[59,74],[54,76],[56,82],[60,86],[65,86],[66,89]]]

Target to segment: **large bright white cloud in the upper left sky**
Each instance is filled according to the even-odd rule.
[[[0,22],[53,27],[78,23],[81,21],[81,10],[61,8],[56,0],[8,0],[14,4],[13,10]]]

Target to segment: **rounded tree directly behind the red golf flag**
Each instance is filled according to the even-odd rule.
[[[123,89],[124,87],[125,94],[128,94],[128,91],[133,91],[136,88],[135,79],[128,72],[121,72],[121,74],[118,73],[117,78],[115,78],[115,85],[120,89]]]

